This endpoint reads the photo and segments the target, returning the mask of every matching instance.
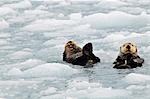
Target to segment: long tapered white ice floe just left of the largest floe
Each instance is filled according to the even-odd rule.
[[[52,31],[75,25],[72,20],[41,19],[22,28],[26,31]]]

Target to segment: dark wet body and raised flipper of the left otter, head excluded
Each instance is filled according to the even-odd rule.
[[[75,49],[75,52],[69,57],[67,57],[67,53],[67,50],[65,50],[63,53],[63,61],[72,63],[73,65],[91,67],[93,64],[100,62],[100,59],[93,54],[91,43],[87,43],[82,50],[78,47],[78,49]]]

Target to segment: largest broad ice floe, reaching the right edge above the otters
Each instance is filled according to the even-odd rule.
[[[144,27],[150,23],[150,15],[132,15],[125,12],[96,13],[83,17],[82,23],[90,24],[93,28],[130,28]]]

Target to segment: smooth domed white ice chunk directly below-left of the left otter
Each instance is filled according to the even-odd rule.
[[[76,69],[60,63],[47,63],[23,72],[24,77],[65,77],[77,73]]]

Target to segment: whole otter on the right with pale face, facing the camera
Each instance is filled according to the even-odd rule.
[[[137,46],[133,43],[125,43],[120,47],[120,53],[113,63],[113,68],[126,69],[141,67],[144,59],[138,56]]]

